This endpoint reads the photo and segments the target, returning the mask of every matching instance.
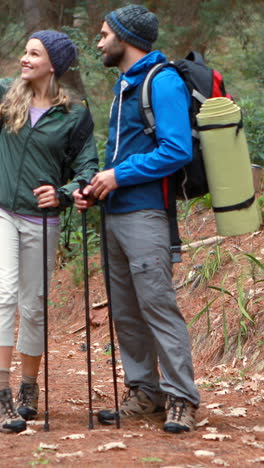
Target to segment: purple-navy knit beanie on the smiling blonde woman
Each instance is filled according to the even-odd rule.
[[[39,39],[46,48],[56,78],[60,78],[77,57],[77,48],[67,34],[45,29],[31,34],[29,39]]]

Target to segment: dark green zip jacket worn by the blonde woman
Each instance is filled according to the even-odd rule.
[[[0,101],[9,85],[10,80],[0,80]],[[69,112],[64,106],[51,107],[34,127],[28,118],[17,134],[1,125],[0,207],[8,211],[42,216],[33,189],[45,181],[58,190],[59,207],[47,209],[48,216],[57,216],[72,202],[78,181],[88,183],[97,171],[93,121],[81,103]],[[66,180],[69,175],[71,181]]]

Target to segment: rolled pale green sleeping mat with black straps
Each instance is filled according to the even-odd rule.
[[[261,217],[239,106],[227,98],[207,99],[197,122],[218,233],[258,230]]]

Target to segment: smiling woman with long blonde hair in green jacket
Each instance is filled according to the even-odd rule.
[[[48,276],[54,267],[59,213],[72,202],[78,180],[97,169],[89,110],[58,84],[77,56],[57,31],[32,34],[21,76],[0,80],[0,431],[21,432],[38,409],[37,376],[44,348],[42,214],[48,217]],[[65,166],[74,177],[63,185]],[[65,183],[65,182],[64,182]],[[12,400],[9,376],[14,320],[22,380]]]

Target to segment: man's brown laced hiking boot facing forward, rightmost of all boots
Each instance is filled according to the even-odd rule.
[[[195,406],[184,398],[168,395],[166,400],[166,422],[164,431],[180,433],[195,428]]]

